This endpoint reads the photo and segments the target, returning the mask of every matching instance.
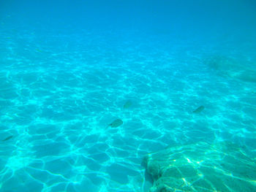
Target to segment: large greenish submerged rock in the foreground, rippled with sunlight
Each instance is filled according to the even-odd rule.
[[[143,161],[154,179],[150,192],[256,190],[254,159],[230,142],[167,147]]]

